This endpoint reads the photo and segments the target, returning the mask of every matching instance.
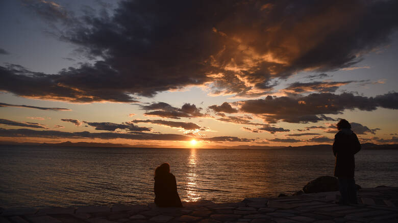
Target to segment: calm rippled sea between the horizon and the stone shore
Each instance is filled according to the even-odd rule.
[[[153,173],[169,162],[184,201],[235,202],[293,193],[333,175],[325,150],[128,149],[0,146],[1,207],[151,203]],[[362,150],[362,187],[398,186],[398,151]]]

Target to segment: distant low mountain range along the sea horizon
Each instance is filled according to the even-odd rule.
[[[170,146],[160,146],[160,145],[146,145],[146,144],[113,144],[113,143],[87,143],[87,142],[63,142],[63,143],[17,143],[17,142],[0,142],[0,145],[25,145],[25,146],[62,146],[62,147],[110,147],[110,148],[175,148]],[[361,144],[362,149],[398,149],[398,144],[385,144],[377,145],[372,143]],[[206,149],[331,149],[332,145],[320,144],[311,146],[222,146],[215,145],[206,147]],[[187,147],[189,148],[189,147]]]

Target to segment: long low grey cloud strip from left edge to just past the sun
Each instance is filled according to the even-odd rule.
[[[159,140],[159,141],[191,141],[192,137],[179,134],[154,134],[144,132],[116,133],[116,132],[63,132],[55,130],[31,130],[31,129],[4,129],[0,128],[0,137],[42,137],[42,138],[85,138],[111,140],[123,138],[126,140]],[[196,140],[209,142],[252,142],[247,138],[235,136],[216,136],[209,138],[197,138]]]

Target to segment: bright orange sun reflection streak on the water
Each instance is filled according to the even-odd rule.
[[[196,175],[196,149],[191,149],[191,154],[188,157],[188,171],[186,173],[187,182],[187,195],[184,199],[185,202],[194,202],[200,200],[199,193],[197,192],[197,175]]]

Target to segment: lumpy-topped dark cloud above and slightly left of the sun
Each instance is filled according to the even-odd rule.
[[[162,118],[180,119],[180,118],[195,118],[205,117],[206,114],[202,114],[202,108],[197,108],[196,105],[185,103],[181,108],[173,107],[164,102],[152,103],[150,105],[140,105],[142,110],[154,110],[147,111],[144,115],[157,116]]]

